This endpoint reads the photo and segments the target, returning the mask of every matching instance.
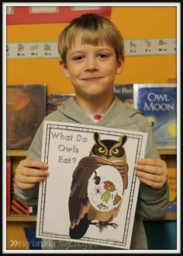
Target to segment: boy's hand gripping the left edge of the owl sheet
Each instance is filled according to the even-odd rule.
[[[36,160],[22,160],[16,169],[16,187],[20,189],[33,188],[48,175],[47,163]]]

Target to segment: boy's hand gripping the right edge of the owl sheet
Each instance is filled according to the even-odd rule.
[[[167,181],[167,163],[161,159],[139,159],[136,161],[136,175],[151,188],[160,189]]]

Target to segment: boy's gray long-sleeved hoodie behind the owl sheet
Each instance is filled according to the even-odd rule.
[[[108,128],[121,128],[136,132],[147,132],[147,149],[145,153],[145,158],[159,158],[157,148],[154,141],[154,135],[151,131],[150,125],[148,124],[147,118],[140,114],[139,110],[129,107],[123,104],[121,100],[117,97],[112,102],[112,105],[105,112],[102,119],[98,123],[94,123],[91,117],[75,102],[74,98],[71,97],[65,100],[57,110],[48,114],[47,117],[43,119],[47,121],[62,121],[68,123],[78,123],[78,124],[88,124],[88,125],[98,125]],[[41,147],[42,147],[42,137],[43,137],[43,122],[38,128],[36,135],[31,143],[28,151],[27,158],[34,160],[41,160]],[[16,195],[22,199],[27,205],[37,205],[37,197],[39,192],[39,184],[34,188],[21,190],[15,188]],[[131,241],[130,249],[147,249],[147,237],[145,230],[143,228],[142,217],[146,218],[159,218],[163,215],[167,205],[168,198],[168,188],[167,184],[163,188],[154,190],[147,185],[140,183],[139,195],[136,205],[136,216],[133,224],[133,236]],[[94,250],[104,250],[115,248],[112,247],[102,247],[95,245],[86,244],[71,244],[71,243],[60,243],[60,241],[54,240],[42,240],[43,249],[94,249]]]

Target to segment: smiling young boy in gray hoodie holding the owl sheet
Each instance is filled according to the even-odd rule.
[[[70,98],[44,120],[91,124],[148,132],[145,158],[137,160],[136,175],[140,191],[136,206],[131,249],[147,249],[142,217],[156,218],[165,211],[168,188],[167,166],[160,159],[147,119],[113,96],[115,75],[123,71],[124,44],[119,30],[108,19],[85,14],[73,19],[58,41],[60,65],[74,86],[75,99]],[[47,163],[40,162],[43,123],[29,147],[26,160],[16,170],[16,195],[26,204],[36,205],[39,182],[47,175]],[[65,246],[64,246],[65,244]],[[82,247],[83,246],[83,247]],[[42,240],[43,249],[84,249],[70,243]],[[91,249],[112,247],[90,246]]]

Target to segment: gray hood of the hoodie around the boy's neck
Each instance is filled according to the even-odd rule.
[[[97,124],[95,124],[91,120],[91,117],[85,113],[85,110],[83,110],[78,103],[75,102],[74,97],[70,97],[68,100],[65,100],[60,106],[57,107],[57,111],[64,114],[65,117],[68,117],[71,119],[71,122],[74,123],[99,125],[111,128],[116,127],[116,124],[119,121],[120,124],[123,124],[123,127],[129,126],[134,122],[136,123],[136,114],[140,114],[139,110],[124,104],[117,96],[114,98],[112,105]],[[121,125],[119,126],[119,128],[122,127]]]

